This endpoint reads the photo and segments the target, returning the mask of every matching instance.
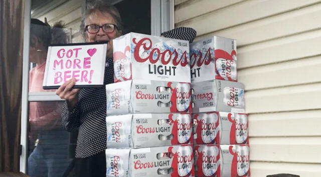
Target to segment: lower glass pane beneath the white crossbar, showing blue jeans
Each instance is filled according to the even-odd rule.
[[[27,173],[62,176],[75,151],[77,132],[61,126],[62,101],[29,102],[29,148]]]

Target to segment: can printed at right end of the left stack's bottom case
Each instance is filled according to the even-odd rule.
[[[189,175],[192,172],[194,165],[192,146],[179,146],[176,153],[178,158],[179,176]]]

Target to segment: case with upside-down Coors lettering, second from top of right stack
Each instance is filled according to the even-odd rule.
[[[192,101],[193,113],[244,113],[244,85],[226,80],[192,83]]]

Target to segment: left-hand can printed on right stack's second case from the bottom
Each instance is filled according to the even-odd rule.
[[[202,141],[204,143],[211,143],[216,138],[217,133],[220,130],[220,118],[216,113],[204,113],[200,114],[201,116],[201,129],[202,129]]]

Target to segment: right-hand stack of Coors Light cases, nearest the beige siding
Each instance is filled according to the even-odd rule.
[[[192,43],[190,55],[196,176],[250,176],[236,41],[213,36]]]

